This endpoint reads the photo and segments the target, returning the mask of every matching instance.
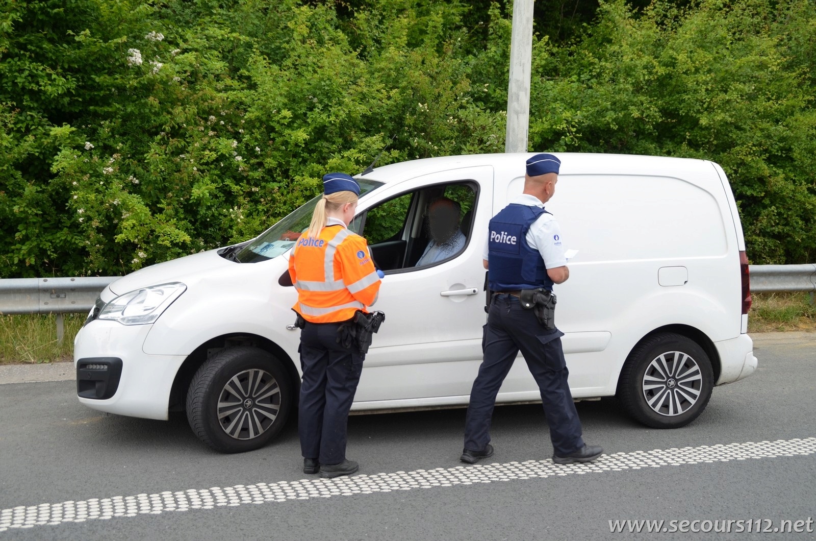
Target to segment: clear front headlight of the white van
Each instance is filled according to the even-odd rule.
[[[118,321],[125,325],[153,323],[186,289],[187,286],[181,282],[135,289],[104,305],[97,319]]]

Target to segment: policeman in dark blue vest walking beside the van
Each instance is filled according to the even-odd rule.
[[[544,203],[555,193],[560,166],[561,160],[552,154],[528,159],[524,193],[490,220],[484,265],[493,293],[482,341],[484,360],[473,382],[465,422],[460,458],[465,463],[493,454],[490,418],[499,387],[519,350],[539,384],[554,449],[552,460],[590,462],[603,453],[601,447],[585,445],[581,438],[561,350],[564,333],[552,320],[552,284],[570,277],[557,221],[544,210]]]

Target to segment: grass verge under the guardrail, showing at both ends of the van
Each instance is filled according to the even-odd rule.
[[[754,293],[748,332],[816,331],[808,293]],[[86,316],[65,314],[65,338],[56,342],[56,316],[0,315],[0,364],[51,363],[73,358],[73,337]]]

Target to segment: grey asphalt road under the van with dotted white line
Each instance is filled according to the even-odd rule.
[[[540,406],[526,405],[497,408],[494,457],[464,467],[464,410],[452,409],[352,417],[361,475],[330,482],[300,471],[294,423],[265,449],[221,455],[184,416],[103,416],[73,381],[0,384],[0,541],[614,539],[631,534],[609,521],[627,519],[665,521],[663,539],[816,539],[736,523],[671,533],[672,520],[816,520],[816,334],[766,335],[755,351],[758,371],[716,388],[688,427],[579,403],[585,439],[607,452],[594,466],[554,466]],[[26,513],[29,527],[9,526]]]

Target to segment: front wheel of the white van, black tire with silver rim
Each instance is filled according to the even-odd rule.
[[[207,360],[193,376],[187,420],[212,449],[241,453],[259,449],[278,435],[289,418],[292,399],[289,374],[281,361],[256,347],[233,347]],[[226,415],[219,418],[220,414]]]

